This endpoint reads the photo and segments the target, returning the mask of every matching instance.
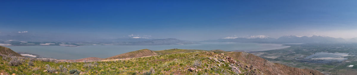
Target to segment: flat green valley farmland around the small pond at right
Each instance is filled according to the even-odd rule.
[[[286,45],[288,48],[250,52],[275,63],[315,69],[332,75],[357,74],[357,44],[316,43]]]

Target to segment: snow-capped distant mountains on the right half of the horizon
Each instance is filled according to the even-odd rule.
[[[350,40],[343,38],[334,38],[323,35],[306,35],[295,36],[286,35],[281,36],[278,39],[271,38],[265,35],[257,35],[250,37],[224,37],[217,40],[205,40],[209,42],[258,42],[258,43],[319,43],[319,42],[357,42],[357,37]]]

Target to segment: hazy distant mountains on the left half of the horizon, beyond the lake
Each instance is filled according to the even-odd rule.
[[[38,37],[29,35],[5,35],[0,36],[1,44],[11,44],[11,45],[40,45],[45,43],[53,43],[54,45],[70,43],[71,45],[81,46],[81,45],[184,45],[184,44],[197,44],[197,42],[178,40],[178,39],[150,39],[147,37],[131,37],[131,38],[120,38],[120,39],[96,39],[96,40],[52,40],[55,38],[49,37]],[[38,44],[32,44],[37,42]],[[57,44],[58,43],[58,44]]]

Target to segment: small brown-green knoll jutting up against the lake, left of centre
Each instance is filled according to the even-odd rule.
[[[157,53],[149,49],[143,49],[138,51],[127,52],[124,54],[119,54],[106,59],[126,59],[126,58],[137,58],[137,57],[147,57],[147,56],[157,56]]]

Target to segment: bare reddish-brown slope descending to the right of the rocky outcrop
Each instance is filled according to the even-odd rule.
[[[225,55],[243,63],[247,63],[248,65],[252,65],[252,67],[259,69],[263,73],[262,75],[323,75],[317,70],[299,69],[272,63],[266,59],[246,52],[230,52],[225,53]]]

